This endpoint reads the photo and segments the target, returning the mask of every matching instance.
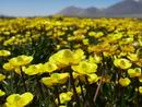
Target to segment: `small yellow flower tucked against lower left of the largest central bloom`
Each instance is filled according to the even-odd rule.
[[[46,63],[44,63],[43,69],[44,69],[44,72],[52,72],[52,71],[57,70],[58,67],[55,63],[46,62]]]

